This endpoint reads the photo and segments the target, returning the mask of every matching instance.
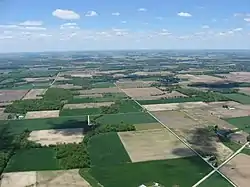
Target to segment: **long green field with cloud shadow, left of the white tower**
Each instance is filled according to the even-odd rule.
[[[83,128],[83,126],[86,125],[86,116],[10,121],[2,120],[0,121],[0,124],[9,125],[9,131],[12,133],[21,133],[25,129],[35,131],[47,129]]]

